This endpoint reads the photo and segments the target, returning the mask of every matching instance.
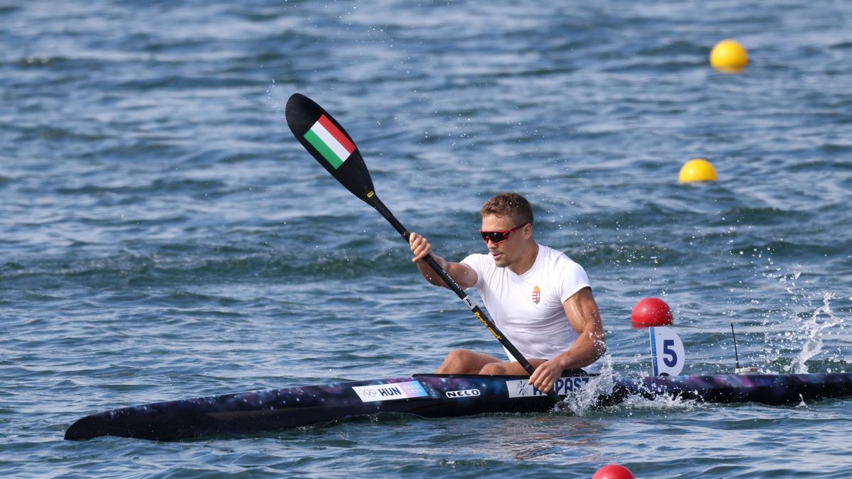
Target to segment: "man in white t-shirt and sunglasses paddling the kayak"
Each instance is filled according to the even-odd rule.
[[[481,212],[480,234],[487,255],[475,253],[461,263],[433,257],[458,286],[476,286],[500,331],[535,367],[529,384],[547,393],[562,370],[590,366],[607,351],[589,278],[565,254],[533,240],[533,207],[520,194],[500,193],[486,201]],[[412,233],[409,244],[412,261],[423,277],[435,286],[448,287],[423,261],[432,251],[429,241]],[[436,372],[527,373],[509,359],[454,349]]]

